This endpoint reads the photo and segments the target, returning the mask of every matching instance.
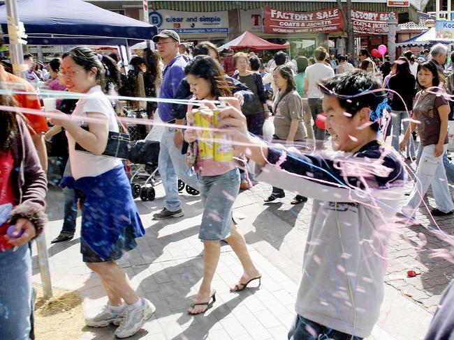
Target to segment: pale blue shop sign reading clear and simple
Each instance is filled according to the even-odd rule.
[[[179,34],[228,33],[228,13],[224,12],[180,12],[177,10],[155,10],[149,13],[149,23],[159,31],[173,29]]]

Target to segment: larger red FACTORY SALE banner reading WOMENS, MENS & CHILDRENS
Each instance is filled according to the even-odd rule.
[[[338,8],[291,12],[263,8],[263,33],[330,33],[344,30]]]

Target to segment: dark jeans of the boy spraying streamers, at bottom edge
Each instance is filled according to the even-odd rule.
[[[316,335],[314,335],[316,334]],[[314,323],[307,318],[297,315],[293,325],[288,332],[288,340],[362,340],[363,338],[351,336],[333,330],[330,327],[325,327],[318,323]]]

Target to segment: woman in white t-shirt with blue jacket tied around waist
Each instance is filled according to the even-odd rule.
[[[82,208],[82,260],[101,277],[108,295],[108,305],[85,321],[91,327],[119,324],[115,335],[130,337],[152,316],[155,307],[138,297],[116,262],[136,247],[135,238],[144,235],[145,230],[122,161],[102,155],[109,131],[119,131],[115,111],[100,86],[104,82],[103,64],[91,49],[76,47],[61,56],[59,75],[68,91],[84,94],[72,114],[76,119],[69,121],[59,111],[54,113],[61,115],[52,118],[52,123],[61,125],[68,137],[73,177],[61,183],[75,190]],[[75,150],[75,144],[87,152]]]

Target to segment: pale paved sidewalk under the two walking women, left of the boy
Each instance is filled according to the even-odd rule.
[[[242,268],[230,247],[225,245],[221,248],[213,281],[213,288],[217,290],[213,309],[199,316],[186,313],[203,275],[203,245],[197,236],[203,210],[199,196],[182,198],[186,216],[171,221],[152,220],[152,212],[161,207],[162,199],[138,201],[147,233],[120,264],[138,294],[156,305],[156,314],[131,339],[286,339],[294,317],[297,284],[253,247],[250,247],[251,256],[263,273],[260,288],[229,292],[229,286],[242,275]],[[50,207],[57,207],[55,204],[59,201],[61,193],[52,190]],[[51,208],[48,244],[59,233],[60,218],[61,210]],[[70,242],[49,245],[52,284],[79,291],[85,313],[92,314],[105,304],[106,298],[101,281],[82,263],[79,247],[78,235]],[[34,281],[40,281],[36,261]],[[115,339],[113,330],[114,327],[85,327],[80,339]]]

